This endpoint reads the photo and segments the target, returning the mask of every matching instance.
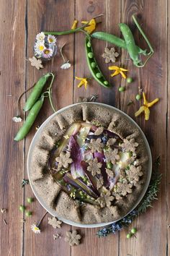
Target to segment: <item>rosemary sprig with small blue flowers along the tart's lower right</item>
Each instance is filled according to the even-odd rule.
[[[97,236],[104,237],[108,234],[115,234],[116,231],[122,230],[125,226],[128,226],[130,223],[133,222],[133,220],[138,217],[140,214],[145,213],[148,208],[152,208],[153,206],[151,203],[153,200],[157,200],[157,193],[159,191],[159,184],[161,182],[161,176],[162,174],[158,173],[158,167],[160,166],[160,157],[156,159],[156,162],[154,164],[154,171],[151,176],[151,182],[148,186],[148,190],[146,192],[146,195],[143,197],[143,200],[139,203],[137,208],[130,212],[128,216],[125,216],[125,218],[122,218],[120,221],[117,221],[115,223],[110,224],[109,226],[104,227],[103,229],[100,229],[97,232]]]

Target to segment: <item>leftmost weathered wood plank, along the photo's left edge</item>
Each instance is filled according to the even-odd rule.
[[[12,122],[16,103],[24,90],[24,13],[25,1],[0,1],[0,255],[22,255],[21,187],[24,175],[23,142],[14,142],[20,124]],[[6,220],[7,225],[4,224]]]

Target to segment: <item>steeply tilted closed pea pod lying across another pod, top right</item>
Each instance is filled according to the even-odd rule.
[[[133,60],[134,64],[139,64],[140,60],[138,59],[138,48],[135,45],[135,40],[133,38],[133,33],[131,32],[130,27],[128,27],[128,25],[125,23],[120,23],[119,27],[125,39],[130,58]]]

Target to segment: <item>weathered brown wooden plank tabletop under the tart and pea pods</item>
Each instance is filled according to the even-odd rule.
[[[83,0],[1,0],[0,1],[0,127],[1,127],[1,208],[7,212],[1,214],[1,249],[0,255],[6,256],[166,256],[169,248],[169,182],[170,175],[166,171],[170,167],[170,133],[169,133],[169,49],[168,43],[168,0],[126,0],[126,1],[83,1]],[[90,20],[97,14],[104,14],[102,23],[97,30],[104,30],[120,36],[119,22],[130,24],[136,41],[144,46],[143,38],[132,24],[131,15],[138,13],[138,20],[146,31],[155,49],[153,58],[146,67],[138,69],[128,59],[126,51],[117,50],[121,58],[117,66],[128,68],[128,75],[134,78],[133,84],[127,85],[120,76],[110,78],[108,65],[104,64],[102,53],[106,43],[95,41],[94,51],[97,61],[113,85],[111,90],[102,88],[92,80],[87,90],[77,88],[75,75],[91,77],[86,65],[84,53],[84,35],[58,36],[58,48],[68,42],[65,54],[71,61],[71,69],[61,70],[62,59],[58,51],[53,61],[45,63],[45,68],[38,71],[27,61],[33,55],[35,35],[43,30],[68,30],[73,20]],[[108,45],[110,46],[110,45]],[[79,96],[88,97],[98,94],[98,101],[122,109],[133,119],[140,103],[135,101],[138,87],[143,88],[150,100],[160,98],[160,102],[151,109],[151,118],[144,121],[143,116],[135,121],[140,125],[148,138],[153,154],[153,161],[161,156],[161,192],[159,200],[154,202],[154,208],[138,218],[132,226],[138,228],[137,239],[126,239],[127,230],[121,231],[107,238],[99,239],[97,229],[79,229],[83,239],[77,247],[69,247],[63,237],[66,231],[74,229],[63,224],[61,230],[56,231],[48,225],[48,216],[42,223],[42,233],[34,234],[30,226],[40,219],[45,210],[35,200],[27,209],[33,210],[32,218],[26,218],[19,212],[19,205],[27,204],[27,197],[33,196],[30,186],[21,186],[22,179],[27,179],[27,152],[36,129],[52,114],[48,101],[40,111],[30,134],[21,142],[14,142],[14,135],[21,124],[12,122],[16,114],[17,98],[30,88],[45,72],[55,72],[56,79],[53,89],[53,99],[57,108],[76,103]],[[120,85],[127,85],[125,93],[119,93]],[[22,98],[22,106],[26,96]],[[127,106],[128,101],[135,101],[135,105]],[[22,218],[26,219],[22,223]],[[3,220],[6,220],[5,225]],[[61,239],[53,240],[53,234],[60,233]]]

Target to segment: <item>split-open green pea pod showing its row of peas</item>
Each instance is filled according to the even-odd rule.
[[[102,74],[97,65],[97,61],[94,58],[93,48],[91,46],[91,40],[89,39],[89,37],[86,37],[85,48],[86,60],[92,76],[95,80],[97,80],[97,82],[99,82],[100,85],[107,88],[110,87],[109,82],[107,82],[107,80],[104,78],[104,75]]]

